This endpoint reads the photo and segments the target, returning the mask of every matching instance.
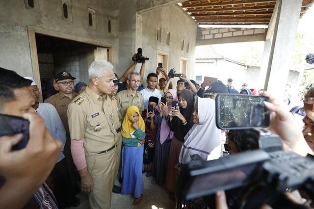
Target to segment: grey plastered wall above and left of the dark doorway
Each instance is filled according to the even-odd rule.
[[[63,18],[61,0],[34,0],[34,2],[34,8],[26,8],[24,0],[0,1],[1,67],[15,70],[22,76],[32,76],[27,26],[37,26],[115,44],[114,36],[117,30],[108,33],[107,22],[113,19],[111,26],[117,29],[114,20],[118,14],[117,1],[72,1],[70,19]],[[88,25],[88,8],[96,11],[96,29]]]

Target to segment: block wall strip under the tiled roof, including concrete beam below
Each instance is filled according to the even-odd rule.
[[[264,41],[265,28],[198,28],[196,45]]]

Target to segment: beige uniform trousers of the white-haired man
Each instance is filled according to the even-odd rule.
[[[88,195],[91,209],[110,209],[112,187],[119,167],[117,147],[107,153],[86,157],[87,168],[94,181]]]

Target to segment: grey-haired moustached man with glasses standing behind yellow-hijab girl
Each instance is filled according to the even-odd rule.
[[[137,91],[138,87],[141,85],[141,80],[142,79],[139,73],[132,71],[128,75],[127,80],[130,88],[124,91],[120,91],[116,95],[116,98],[118,100],[118,107],[120,109],[119,118],[121,122],[123,121],[129,106],[137,106],[140,112],[144,110],[143,96]]]

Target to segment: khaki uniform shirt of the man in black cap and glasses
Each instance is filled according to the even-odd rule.
[[[78,93],[74,92],[72,100],[74,100],[77,96],[78,96]],[[71,99],[65,96],[64,94],[62,94],[61,92],[59,92],[55,95],[52,95],[48,99],[46,99],[45,103],[50,103],[56,108],[61,118],[61,121],[63,123],[65,131],[67,132],[67,134],[70,134],[67,110],[68,110],[69,104],[71,103]]]

